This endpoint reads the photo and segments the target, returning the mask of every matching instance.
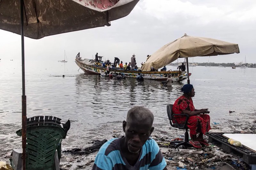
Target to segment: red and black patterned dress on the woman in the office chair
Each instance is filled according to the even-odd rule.
[[[193,100],[190,97],[187,99],[185,96],[180,96],[173,104],[172,112],[173,114],[184,114],[183,110],[195,111],[195,107],[193,104]],[[178,124],[184,124],[186,117],[185,116],[176,116]],[[174,120],[172,120],[173,123]],[[210,126],[210,116],[208,114],[199,114],[196,116],[190,116],[188,118],[188,128],[190,130],[190,137],[192,135],[196,135],[198,132],[198,128],[201,129],[202,133],[208,132],[211,129]]]

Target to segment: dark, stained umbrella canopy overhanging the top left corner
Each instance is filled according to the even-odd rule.
[[[110,25],[139,0],[24,0],[24,36],[46,36]],[[0,29],[20,34],[20,1],[0,0]]]

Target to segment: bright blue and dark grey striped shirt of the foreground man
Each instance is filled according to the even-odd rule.
[[[154,139],[148,138],[142,146],[139,160],[130,166],[121,155],[121,138],[114,138],[101,146],[92,170],[163,170],[166,166],[164,156]]]

